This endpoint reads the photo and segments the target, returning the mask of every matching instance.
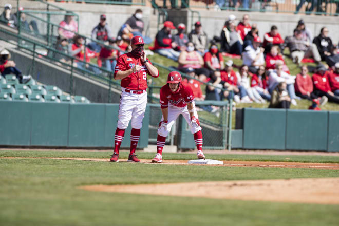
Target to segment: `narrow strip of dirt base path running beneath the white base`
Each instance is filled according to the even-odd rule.
[[[23,157],[0,157],[0,159],[16,159]],[[26,157],[25,157],[26,158]],[[110,162],[109,159],[98,158],[51,158],[51,157],[28,157],[35,159],[60,159],[79,161]],[[162,163],[152,163],[150,159],[140,159],[143,164],[167,164],[167,165],[191,165],[187,160],[163,160]],[[119,159],[119,163],[127,162],[127,159]],[[112,162],[112,164],[119,164]],[[192,164],[198,165],[198,164]],[[271,168],[316,168],[326,170],[339,170],[339,164],[331,163],[300,163],[300,162],[260,162],[260,161],[223,161],[223,165],[201,165],[201,166],[228,166],[228,167],[271,167]]]

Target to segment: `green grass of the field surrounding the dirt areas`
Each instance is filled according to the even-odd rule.
[[[0,154],[22,157],[107,158],[108,152],[2,151]],[[140,154],[143,158],[149,156],[149,153]],[[190,157],[185,154],[168,154],[170,156],[181,159]],[[228,155],[219,156],[227,158]],[[122,157],[126,157],[126,153],[122,153]],[[244,156],[238,158],[246,159]],[[318,159],[314,156],[312,158]],[[87,184],[338,177],[337,170],[202,167],[26,158],[0,159],[0,172],[0,225],[309,226],[337,225],[339,221],[338,205],[179,198],[76,189],[77,186]]]

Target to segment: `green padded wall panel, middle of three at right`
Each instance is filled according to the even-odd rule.
[[[328,111],[288,110],[286,149],[327,150]]]

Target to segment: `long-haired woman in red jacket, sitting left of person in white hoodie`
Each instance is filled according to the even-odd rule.
[[[268,91],[268,77],[264,66],[260,66],[255,74],[251,78],[251,87],[256,89],[259,95],[270,101],[271,95]]]

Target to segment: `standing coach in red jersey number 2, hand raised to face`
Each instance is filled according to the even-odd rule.
[[[131,40],[132,51],[121,55],[118,59],[114,78],[121,79],[121,96],[119,105],[119,119],[115,134],[114,153],[112,162],[119,161],[119,149],[124,139],[125,129],[131,120],[129,162],[140,162],[135,150],[140,137],[140,128],[147,104],[147,74],[157,78],[158,69],[150,63],[144,51],[144,41],[141,36],[134,36]]]

